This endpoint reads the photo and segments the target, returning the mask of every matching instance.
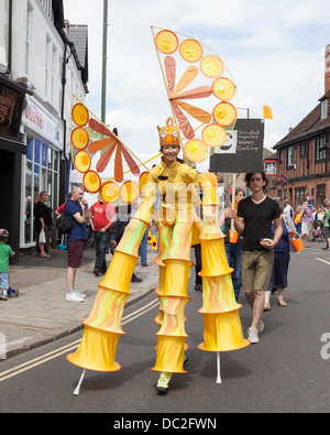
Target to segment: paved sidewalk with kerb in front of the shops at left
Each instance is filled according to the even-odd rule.
[[[157,285],[158,268],[153,259],[156,251],[147,244],[147,268],[140,260],[134,273],[143,281],[132,283],[125,307],[152,293]],[[112,255],[107,255],[109,265]],[[67,251],[52,250],[51,259],[35,254],[21,257],[18,265],[10,265],[10,285],[19,290],[19,297],[0,301],[0,345],[6,344],[6,357],[10,358],[26,350],[37,348],[84,328],[92,308],[99,283],[92,273],[95,250],[84,252],[81,267],[76,275],[76,289],[86,294],[84,303],[73,303],[66,296]]]

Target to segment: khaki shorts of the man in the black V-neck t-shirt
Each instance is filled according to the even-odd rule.
[[[242,252],[242,287],[244,293],[268,290],[274,265],[274,251]]]

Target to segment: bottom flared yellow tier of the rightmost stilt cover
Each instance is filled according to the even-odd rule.
[[[204,314],[204,339],[198,348],[210,352],[237,350],[250,345],[243,337],[239,311]]]

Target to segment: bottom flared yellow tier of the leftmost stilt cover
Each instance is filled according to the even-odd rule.
[[[82,341],[75,354],[66,358],[75,366],[86,370],[118,371],[120,365],[114,361],[119,334],[85,326]]]

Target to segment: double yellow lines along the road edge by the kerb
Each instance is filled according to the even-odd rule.
[[[140,309],[136,309],[135,312],[129,314],[128,316],[123,317],[122,319],[122,325],[127,325],[130,322],[135,320],[136,318],[143,316],[144,314],[146,314],[147,312],[154,309],[156,306],[160,305],[160,301],[155,300],[152,301],[150,304],[143,306]],[[47,361],[51,361],[52,359],[58,358],[64,354],[67,354],[72,350],[75,350],[78,348],[78,346],[80,345],[81,339],[73,341],[66,346],[61,347],[59,349],[53,350],[46,355],[43,355],[41,357],[37,357],[31,361],[24,362],[20,366],[13,367],[12,369],[9,369],[7,371],[3,371],[2,373],[0,373],[0,382],[6,381],[7,379],[13,378],[20,373],[23,373],[24,371],[31,370],[37,366],[41,366]]]

